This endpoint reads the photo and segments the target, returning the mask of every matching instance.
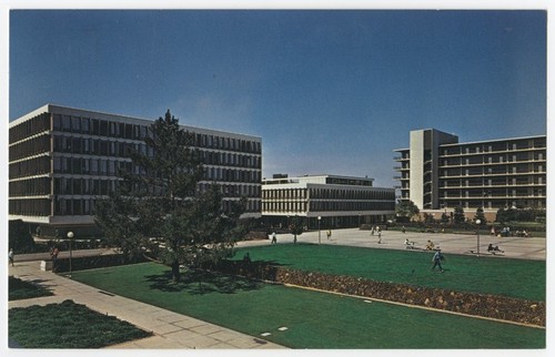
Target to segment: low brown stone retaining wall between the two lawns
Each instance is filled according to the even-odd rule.
[[[545,326],[544,302],[531,302],[506,296],[461,293],[450,289],[375,282],[352,276],[293,271],[260,262],[222,262],[218,269],[226,274],[281,284],[299,285],[333,293],[425,306],[461,314]]]

